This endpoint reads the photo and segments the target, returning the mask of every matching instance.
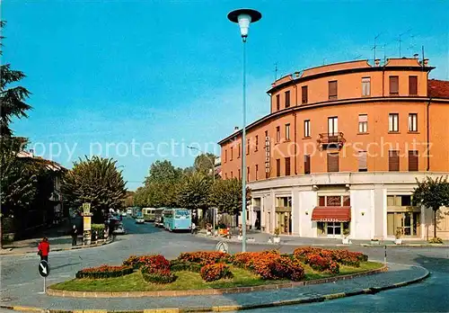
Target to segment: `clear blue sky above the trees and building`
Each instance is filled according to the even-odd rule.
[[[3,62],[25,72],[33,106],[15,134],[69,168],[91,152],[114,157],[131,190],[156,159],[191,165],[187,145],[218,153],[242,126],[242,45],[226,19],[242,6],[262,13],[248,41],[248,121],[269,112],[275,63],[283,76],[373,58],[377,34],[396,58],[408,31],[402,56],[424,45],[431,77],[449,79],[445,1],[5,0]]]

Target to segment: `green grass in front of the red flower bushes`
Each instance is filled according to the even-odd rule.
[[[339,275],[347,275],[349,273],[360,273],[382,267],[383,264],[376,262],[361,263],[360,267],[350,267],[341,265]],[[204,282],[199,273],[176,272],[178,279],[168,284],[147,283],[142,278],[140,272],[117,278],[105,279],[75,279],[67,282],[60,282],[50,286],[55,290],[65,291],[185,291],[198,289],[219,289],[234,287],[251,287],[258,285],[266,285],[273,283],[282,283],[289,281],[264,281],[259,276],[243,270],[241,268],[230,266],[233,273],[232,279],[224,279],[216,282]],[[305,280],[315,280],[325,277],[338,276],[330,273],[320,273],[304,264]]]

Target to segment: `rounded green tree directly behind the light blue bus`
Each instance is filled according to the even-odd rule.
[[[179,203],[182,208],[195,210],[198,217],[198,210],[202,210],[203,221],[206,220],[206,212],[210,207],[210,189],[212,181],[205,174],[194,173],[184,176],[180,183],[178,193]]]

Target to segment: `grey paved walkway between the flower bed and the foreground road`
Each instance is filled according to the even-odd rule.
[[[289,304],[310,303],[372,294],[425,279],[428,271],[420,266],[388,264],[389,271],[357,277],[339,282],[311,284],[277,291],[254,291],[212,296],[157,297],[157,298],[113,298],[83,299],[60,298],[30,293],[15,299],[2,309],[26,310],[48,309],[48,312],[95,309],[106,311],[128,311],[159,309],[165,312],[195,312],[258,309]]]

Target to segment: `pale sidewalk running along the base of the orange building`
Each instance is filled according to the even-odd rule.
[[[237,231],[233,231],[233,237],[227,239],[225,237],[212,237],[207,236],[205,232],[199,232],[198,237],[206,237],[216,241],[227,242],[242,242],[234,234]],[[273,235],[267,233],[261,233],[256,231],[247,231],[247,244],[249,245],[269,245],[269,239],[273,240]],[[312,237],[297,237],[297,236],[279,236],[280,244],[272,244],[274,246],[348,246],[341,243],[341,238],[312,238]],[[379,240],[379,244],[372,244],[370,240],[352,240],[349,246],[435,246],[435,247],[449,247],[448,244],[435,245],[429,244],[425,240],[402,240],[402,245],[395,245],[393,240]]]

